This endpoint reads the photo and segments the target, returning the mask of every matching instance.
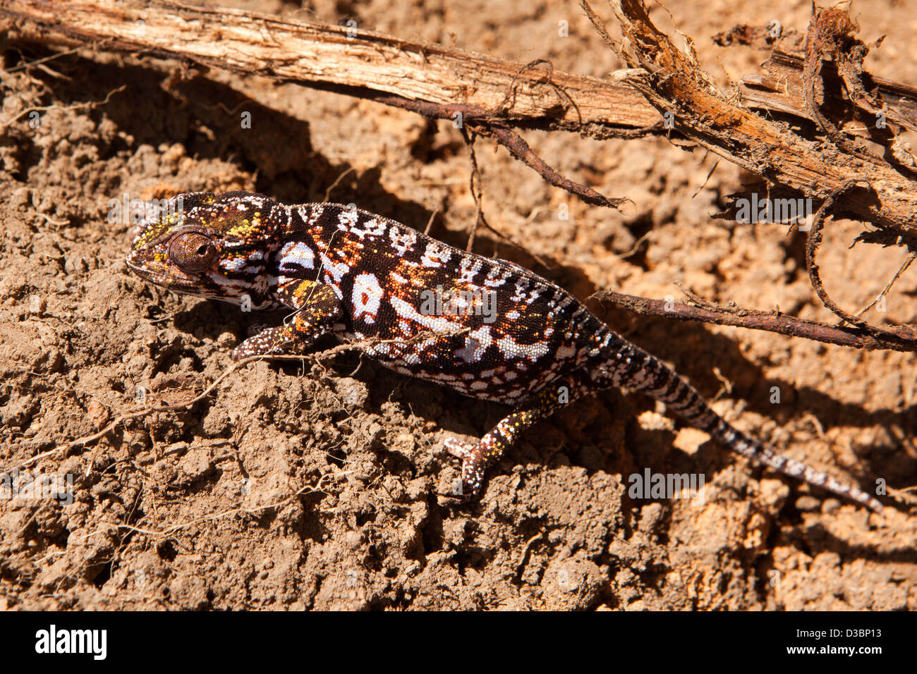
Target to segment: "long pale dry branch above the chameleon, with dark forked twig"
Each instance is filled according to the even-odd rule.
[[[454,119],[488,132],[547,182],[589,204],[613,207],[624,200],[561,178],[508,126],[596,138],[657,130],[656,111],[629,86],[554,72],[549,63],[546,77],[538,61],[520,67],[357,28],[169,0],[0,0],[0,18],[14,39],[141,51]]]

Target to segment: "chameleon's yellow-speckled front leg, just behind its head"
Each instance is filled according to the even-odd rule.
[[[277,293],[283,304],[296,310],[293,320],[282,326],[265,328],[249,337],[233,349],[233,360],[302,353],[319,337],[330,332],[340,320],[340,301],[327,285],[296,280],[284,283]]]

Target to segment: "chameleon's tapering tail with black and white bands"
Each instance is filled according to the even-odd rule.
[[[594,370],[594,378],[604,378],[614,386],[644,392],[665,403],[668,409],[679,414],[686,422],[709,433],[736,454],[754,459],[784,475],[834,492],[856,503],[862,503],[877,513],[882,510],[882,504],[867,492],[837,481],[821,470],[814,470],[800,461],[784,457],[729,425],[713,412],[691,384],[681,379],[661,360],[617,336],[607,326],[605,331],[607,332],[602,338],[602,361],[599,368]]]

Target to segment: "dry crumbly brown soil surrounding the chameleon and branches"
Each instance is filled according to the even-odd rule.
[[[620,67],[576,3],[424,5],[319,0],[304,16],[355,18],[515,61],[548,58],[569,72]],[[713,35],[772,19],[804,29],[809,12],[802,0],[668,6],[724,85],[765,54],[715,47]],[[917,83],[912,10],[862,0],[856,11],[864,39],[888,36],[867,68]],[[672,25],[658,6],[653,17]],[[6,67],[46,53],[7,49]],[[201,392],[252,322],[229,304],[129,275],[131,227],[109,220],[110,200],[241,188],[321,201],[349,171],[332,201],[419,229],[438,209],[432,233],[458,246],[474,219],[467,153],[448,122],[257,78],[191,80],[178,63],[171,72],[151,63],[72,54],[0,72],[0,119],[39,112],[39,127],[26,113],[0,138],[4,470],[133,409],[138,387],[154,402]],[[250,130],[239,128],[243,110]],[[752,176],[721,162],[704,182],[715,158],[664,138],[525,137],[565,175],[634,204],[582,204],[480,141],[485,213],[522,248],[484,233],[478,252],[530,266],[580,298],[613,288],[677,299],[681,282],[713,301],[831,320],[808,285],[798,235],[711,217]],[[821,256],[826,287],[853,310],[903,258],[847,249],[859,230],[829,223]],[[913,323],[915,293],[911,270],[886,313],[870,318]],[[790,456],[863,485],[917,483],[911,354],[594,308]],[[525,435],[480,502],[440,496],[458,473],[442,440],[481,436],[505,413],[352,353],[324,365],[251,364],[187,411],[151,414],[29,466],[75,476],[74,501],[0,500],[0,609],[917,608],[913,518],[869,514],[776,477],[641,396],[570,405]],[[702,473],[705,502],[629,498],[628,476],[647,467]]]

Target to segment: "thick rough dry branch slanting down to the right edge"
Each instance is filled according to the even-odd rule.
[[[713,153],[819,202],[850,181],[867,185],[837,200],[842,215],[867,220],[902,237],[917,239],[917,189],[907,175],[878,157],[855,157],[830,143],[803,138],[786,125],[757,115],[724,95],[692,55],[682,53],[646,13],[640,0],[610,0],[624,41],[612,39],[602,19],[583,8],[605,41],[633,69],[627,81],[675,129]]]

